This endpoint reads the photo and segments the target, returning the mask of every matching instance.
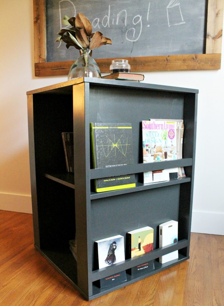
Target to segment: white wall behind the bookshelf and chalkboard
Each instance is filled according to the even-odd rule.
[[[3,0],[0,28],[0,209],[31,213],[26,91],[67,77],[34,76],[32,0]],[[199,89],[195,232],[224,234],[223,81],[224,52],[220,70],[145,73],[147,83]]]

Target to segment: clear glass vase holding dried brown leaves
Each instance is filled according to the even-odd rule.
[[[80,57],[72,64],[68,80],[76,79],[82,76],[101,78],[100,68],[94,59],[90,56],[91,50],[81,49]]]

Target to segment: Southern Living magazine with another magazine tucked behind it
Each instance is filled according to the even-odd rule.
[[[150,119],[142,121],[143,162],[161,162],[182,158],[183,120]],[[152,183],[185,176],[184,169],[161,169],[160,176],[153,171],[143,174],[143,182]],[[169,172],[169,177],[167,172]],[[156,180],[154,180],[156,179]]]

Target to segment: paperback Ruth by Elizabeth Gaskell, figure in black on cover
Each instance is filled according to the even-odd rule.
[[[119,263],[125,260],[124,256],[124,237],[121,235],[101,239],[95,241],[96,244],[96,261],[97,268],[101,269],[109,267],[114,263]],[[97,285],[100,288],[108,287],[111,285],[118,285],[121,282],[127,281],[126,271],[121,271],[112,274],[105,278],[101,278]]]

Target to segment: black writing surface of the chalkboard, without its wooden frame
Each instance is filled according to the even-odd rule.
[[[47,62],[74,60],[79,51],[55,43],[63,16],[83,13],[93,32],[112,40],[93,58],[203,54],[208,0],[47,0]]]

